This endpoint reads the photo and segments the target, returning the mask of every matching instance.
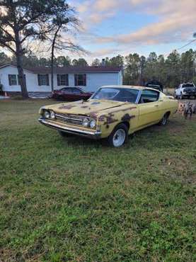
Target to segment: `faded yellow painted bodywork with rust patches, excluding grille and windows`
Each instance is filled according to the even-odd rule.
[[[165,113],[169,112],[171,115],[175,113],[178,109],[178,101],[160,93],[158,101],[151,103],[135,104],[109,100],[76,101],[45,106],[40,108],[40,115],[42,115],[43,109],[53,110],[55,113],[91,117],[96,120],[96,130],[101,132],[100,137],[104,138],[108,137],[119,123],[129,125],[129,134],[146,126],[154,125],[163,118]],[[60,125],[70,127],[62,122]],[[74,127],[78,130],[93,131],[90,127],[79,125],[74,125]]]

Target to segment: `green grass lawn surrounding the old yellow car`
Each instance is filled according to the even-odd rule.
[[[0,101],[0,261],[195,261],[196,118],[113,149],[40,125],[49,103]]]

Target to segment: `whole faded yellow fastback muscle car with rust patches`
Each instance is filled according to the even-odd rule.
[[[40,108],[39,121],[67,133],[107,138],[120,147],[127,136],[149,125],[166,125],[177,111],[178,101],[161,91],[143,86],[102,86],[88,101],[60,103]]]

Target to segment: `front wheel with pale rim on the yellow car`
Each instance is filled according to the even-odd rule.
[[[108,137],[108,143],[112,147],[121,147],[127,141],[128,127],[125,124],[119,124]]]

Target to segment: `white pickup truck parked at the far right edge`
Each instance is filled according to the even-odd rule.
[[[195,96],[196,98],[196,87],[193,83],[180,84],[177,89],[175,89],[175,98],[190,98]]]

